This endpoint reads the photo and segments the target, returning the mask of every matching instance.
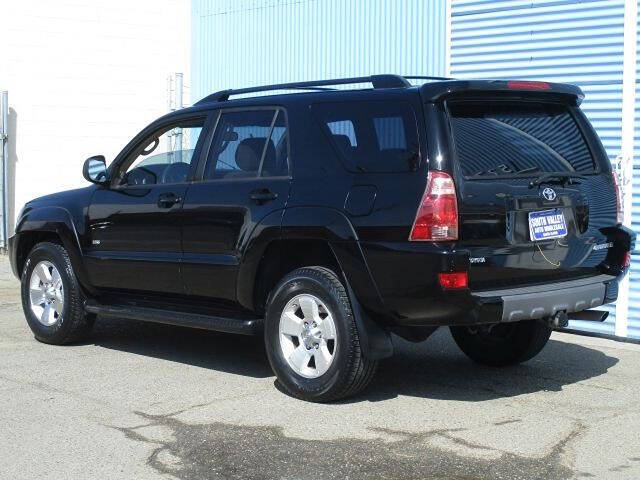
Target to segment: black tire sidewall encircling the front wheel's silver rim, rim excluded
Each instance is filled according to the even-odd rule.
[[[46,260],[51,262],[58,272],[60,273],[60,278],[62,279],[62,289],[63,289],[63,299],[64,305],[62,307],[62,318],[60,318],[53,325],[43,325],[40,323],[35,314],[31,311],[31,302],[30,302],[30,281],[31,281],[31,273],[33,269],[40,263],[41,261]],[[36,245],[34,249],[29,253],[27,260],[24,264],[24,268],[22,270],[21,276],[21,293],[22,293],[22,308],[24,310],[24,315],[27,319],[27,323],[29,324],[29,328],[35,335],[35,337],[43,342],[51,343],[56,342],[59,338],[63,338],[66,336],[67,331],[71,328],[72,319],[72,289],[75,288],[75,282],[73,279],[73,271],[71,271],[71,266],[68,265],[66,259],[62,255],[62,253],[48,244],[40,244]]]

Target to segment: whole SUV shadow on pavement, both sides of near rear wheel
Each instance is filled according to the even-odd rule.
[[[552,339],[537,357],[521,365],[485,367],[469,360],[446,328],[421,343],[398,337],[393,342],[395,355],[380,363],[369,388],[344,403],[376,402],[399,395],[480,402],[560,391],[603,375],[618,363],[600,350]],[[89,343],[248,377],[274,376],[262,337],[101,318]]]

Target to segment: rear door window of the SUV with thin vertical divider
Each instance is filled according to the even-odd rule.
[[[287,136],[281,110],[223,112],[209,149],[204,179],[286,175]]]

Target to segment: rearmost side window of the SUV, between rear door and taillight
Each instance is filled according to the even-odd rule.
[[[419,167],[418,126],[408,103],[321,103],[313,111],[349,170],[404,172]]]

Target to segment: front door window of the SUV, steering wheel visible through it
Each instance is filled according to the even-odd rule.
[[[186,120],[156,132],[136,150],[121,175],[121,185],[187,181],[205,119]]]

